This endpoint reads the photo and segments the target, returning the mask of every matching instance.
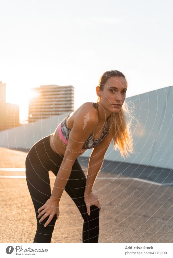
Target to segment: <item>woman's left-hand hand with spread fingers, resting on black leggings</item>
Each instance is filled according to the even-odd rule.
[[[40,212],[40,211],[42,211],[42,212]],[[58,216],[59,216],[59,203],[55,202],[51,198],[49,198],[45,202],[45,204],[38,209],[38,212],[40,212],[40,213],[38,214],[37,218],[40,218],[42,216],[42,214],[45,214],[39,220],[39,223],[41,223],[45,218],[47,218],[49,216],[48,220],[45,223],[45,227],[46,227],[51,222],[51,220],[52,220],[52,218],[53,218],[53,216],[55,214],[57,215],[57,219],[58,219]]]

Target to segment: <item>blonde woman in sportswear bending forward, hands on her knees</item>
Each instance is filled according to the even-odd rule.
[[[78,207],[83,223],[83,243],[98,243],[98,196],[92,187],[110,142],[121,156],[133,152],[130,122],[126,122],[123,105],[127,81],[120,71],[102,74],[96,87],[97,102],[85,102],[68,115],[55,132],[40,139],[26,157],[26,180],[37,218],[33,243],[51,243],[62,192],[69,194]],[[126,103],[124,103],[126,104]],[[87,178],[77,157],[91,149]],[[51,194],[48,171],[55,174]]]

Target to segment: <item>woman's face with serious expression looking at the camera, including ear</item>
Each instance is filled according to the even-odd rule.
[[[103,91],[97,86],[97,93],[100,94],[100,104],[110,112],[119,112],[125,101],[127,83],[124,77],[113,76],[108,78]],[[119,105],[113,105],[119,104]]]

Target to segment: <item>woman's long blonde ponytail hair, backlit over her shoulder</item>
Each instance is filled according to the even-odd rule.
[[[112,76],[122,76],[125,78],[124,74],[117,70],[111,70],[103,73],[100,77],[98,84],[98,86],[100,87],[100,91],[103,91],[106,81],[109,77]],[[99,103],[99,101],[100,97],[98,96],[97,103]],[[125,112],[129,115],[129,122],[127,122]],[[129,107],[125,101],[118,113],[112,112],[110,115],[108,132],[109,139],[111,139],[111,143],[114,147],[114,150],[118,149],[123,158],[125,157],[125,155],[127,157],[130,156],[128,151],[130,153],[135,153],[133,150],[133,137],[131,133],[131,120],[133,118],[134,117],[131,115],[131,111],[129,110]]]

